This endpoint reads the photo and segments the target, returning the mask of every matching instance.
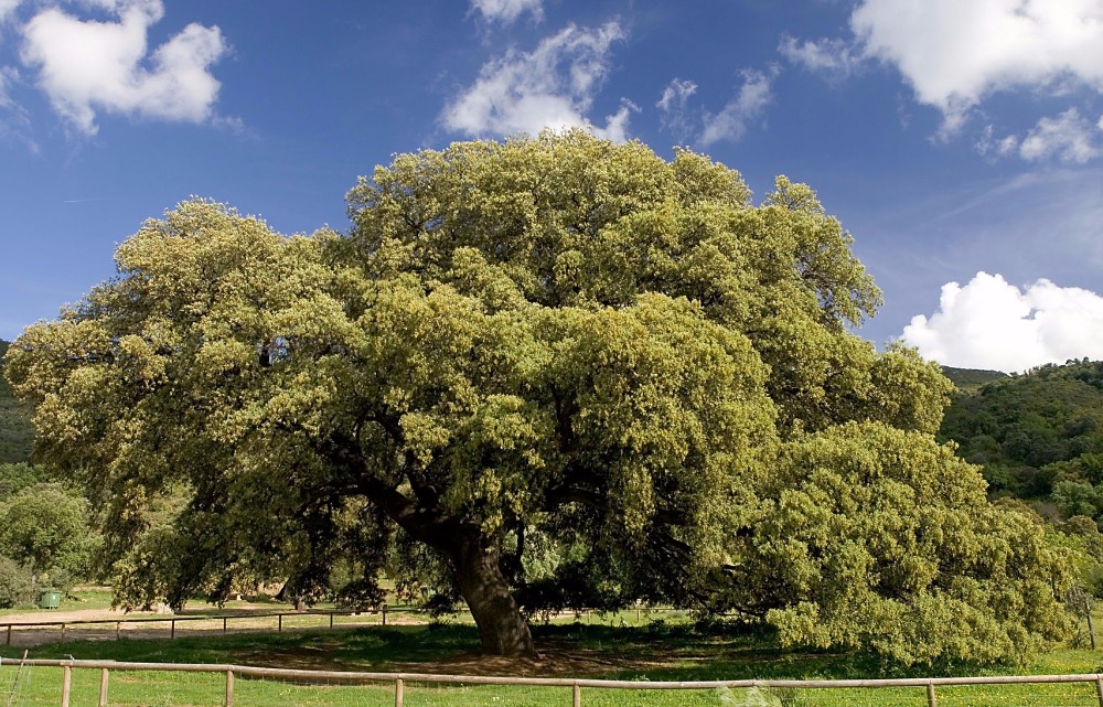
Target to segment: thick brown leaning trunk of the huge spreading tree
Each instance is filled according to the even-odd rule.
[[[499,553],[471,538],[461,544],[454,561],[460,593],[479,626],[483,652],[535,656],[533,634],[499,567]]]

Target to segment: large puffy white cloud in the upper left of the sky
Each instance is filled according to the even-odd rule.
[[[95,135],[97,111],[203,122],[213,116],[219,83],[210,67],[226,52],[216,26],[189,24],[148,52],[161,0],[96,0],[118,22],[81,20],[57,8],[23,28],[21,58],[54,109],[81,132]]]

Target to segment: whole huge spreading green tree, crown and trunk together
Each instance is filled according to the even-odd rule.
[[[347,234],[295,237],[180,204],[12,346],[39,453],[108,508],[121,601],[271,579],[310,600],[341,566],[361,600],[384,569],[464,600],[501,654],[533,652],[522,612],[638,599],[818,644],[933,622],[944,596],[997,652],[1059,631],[1060,554],[935,443],[938,366],[850,332],[880,293],[810,188],[756,206],[703,156],[569,131],[400,154],[349,204]],[[800,494],[837,517],[794,526]],[[1021,563],[955,549],[924,504],[960,537],[1027,538]],[[896,647],[906,623],[880,650],[925,660]]]

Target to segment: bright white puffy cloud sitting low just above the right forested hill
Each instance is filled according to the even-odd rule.
[[[939,311],[918,315],[903,341],[943,365],[1025,371],[1070,358],[1103,357],[1103,297],[1038,280],[1024,289],[978,272],[942,287]]]

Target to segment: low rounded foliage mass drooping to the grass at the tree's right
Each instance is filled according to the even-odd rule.
[[[915,432],[849,424],[788,444],[735,602],[783,643],[870,646],[903,662],[1022,658],[1068,630],[1068,554],[1029,511]]]

